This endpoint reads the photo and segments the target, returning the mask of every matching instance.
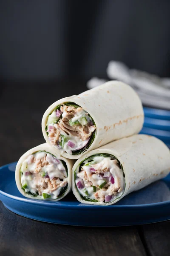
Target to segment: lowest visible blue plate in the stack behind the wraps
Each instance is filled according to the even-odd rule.
[[[162,140],[164,143],[170,143],[170,131],[162,131],[152,128],[143,127],[140,131],[140,134],[148,134],[151,136],[155,136]]]

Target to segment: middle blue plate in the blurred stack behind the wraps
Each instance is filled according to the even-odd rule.
[[[155,119],[145,116],[144,127],[163,131],[170,131],[170,120]]]

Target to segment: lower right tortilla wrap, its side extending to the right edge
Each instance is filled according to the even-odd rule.
[[[169,172],[169,148],[138,134],[85,153],[73,166],[72,190],[84,204],[111,205]]]

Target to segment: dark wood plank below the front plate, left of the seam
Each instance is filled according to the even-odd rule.
[[[0,255],[145,256],[136,227],[91,228],[21,217],[0,203]]]

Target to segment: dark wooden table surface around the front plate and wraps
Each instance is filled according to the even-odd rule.
[[[78,79],[3,83],[0,166],[44,142],[41,119],[51,103],[84,90],[85,81]],[[62,226],[21,217],[0,202],[0,256],[13,255],[170,256],[170,221],[111,228]]]

